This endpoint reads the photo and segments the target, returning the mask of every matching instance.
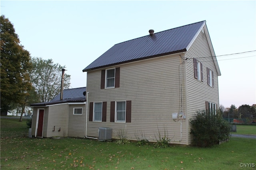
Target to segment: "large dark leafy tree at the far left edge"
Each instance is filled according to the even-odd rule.
[[[32,68],[30,53],[20,44],[13,24],[1,16],[1,115],[12,106],[24,105],[31,90],[29,72]]]

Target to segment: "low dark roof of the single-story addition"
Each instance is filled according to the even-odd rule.
[[[63,90],[63,100],[60,100],[60,94],[58,94],[50,102],[35,103],[30,104],[30,106],[49,106],[63,103],[86,102],[84,92],[86,93],[86,87],[65,89]]]

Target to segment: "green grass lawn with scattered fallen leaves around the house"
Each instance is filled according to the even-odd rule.
[[[240,163],[256,164],[255,139],[232,137],[213,148],[161,149],[90,139],[28,138],[24,131],[28,132],[25,120],[1,119],[1,170],[233,170],[244,169]]]

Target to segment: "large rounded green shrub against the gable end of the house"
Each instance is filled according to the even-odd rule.
[[[220,141],[230,139],[230,125],[217,113],[209,113],[205,110],[197,111],[196,119],[190,119],[193,135],[192,145],[197,147],[211,147]]]

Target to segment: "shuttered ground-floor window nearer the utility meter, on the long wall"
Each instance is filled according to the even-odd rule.
[[[110,102],[110,122],[131,122],[132,101]]]

